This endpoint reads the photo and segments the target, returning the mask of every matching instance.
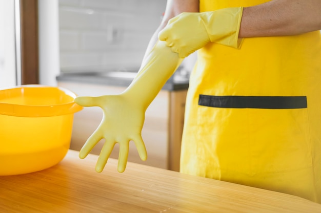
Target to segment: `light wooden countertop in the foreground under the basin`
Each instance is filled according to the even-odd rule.
[[[0,176],[0,212],[321,212],[321,205],[291,195],[69,151],[44,171]]]

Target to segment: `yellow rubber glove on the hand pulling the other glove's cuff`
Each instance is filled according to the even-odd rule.
[[[159,40],[166,41],[173,52],[185,58],[208,42],[239,48],[242,39],[238,31],[243,7],[225,8],[211,12],[181,13],[171,18],[159,32]]]

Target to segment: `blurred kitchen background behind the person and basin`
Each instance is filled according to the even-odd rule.
[[[79,96],[119,94],[137,73],[166,0],[0,0],[0,87],[40,83]],[[148,160],[130,143],[129,161],[178,171],[185,97],[195,53],[146,111]],[[99,108],[74,116],[79,150],[102,119]],[[93,154],[99,154],[104,141]],[[111,157],[118,157],[118,147]]]

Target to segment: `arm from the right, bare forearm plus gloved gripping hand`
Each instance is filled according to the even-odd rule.
[[[239,48],[237,38],[296,35],[319,30],[319,14],[319,0],[273,0],[243,10],[224,8],[182,13],[169,20],[160,31],[159,39],[166,41],[180,57],[186,57],[208,42]]]

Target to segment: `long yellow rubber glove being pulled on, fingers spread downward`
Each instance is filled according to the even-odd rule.
[[[172,52],[165,42],[158,41],[144,61],[145,64],[123,93],[75,98],[75,102],[83,107],[98,106],[104,112],[102,122],[79,152],[79,157],[85,158],[99,140],[105,138],[96,164],[97,172],[103,171],[115,143],[119,143],[118,172],[125,171],[130,140],[134,141],[139,157],[142,160],[147,159],[141,135],[145,111],[182,59]]]

